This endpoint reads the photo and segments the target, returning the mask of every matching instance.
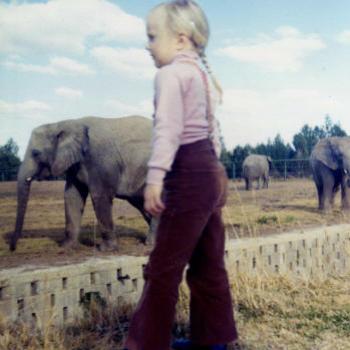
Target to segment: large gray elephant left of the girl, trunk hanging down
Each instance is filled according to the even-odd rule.
[[[85,201],[90,194],[99,230],[101,250],[113,250],[113,198],[127,200],[150,224],[143,208],[147,161],[151,152],[152,121],[124,118],[85,117],[47,124],[33,130],[17,178],[17,217],[10,235],[15,250],[21,236],[30,184],[48,176],[65,174],[65,239],[78,242]]]

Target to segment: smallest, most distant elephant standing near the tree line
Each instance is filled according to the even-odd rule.
[[[245,189],[252,189],[253,181],[257,181],[257,189],[260,188],[260,179],[263,180],[263,188],[269,187],[269,171],[272,159],[265,155],[250,154],[243,161],[242,176],[245,180]]]

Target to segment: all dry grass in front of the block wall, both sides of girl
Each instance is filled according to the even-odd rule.
[[[349,276],[306,281],[240,275],[232,290],[242,350],[350,349]],[[182,286],[174,335],[188,335],[188,301],[188,290]],[[97,301],[87,310],[83,321],[62,329],[47,326],[39,331],[0,322],[0,349],[121,349],[131,309]]]

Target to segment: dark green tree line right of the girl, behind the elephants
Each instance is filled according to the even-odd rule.
[[[268,139],[266,143],[259,143],[255,147],[250,144],[238,145],[232,151],[227,150],[222,142],[221,161],[224,164],[230,178],[239,177],[242,173],[242,164],[249,154],[264,154],[277,160],[303,160],[308,159],[316,143],[325,137],[347,136],[340,123],[334,123],[330,116],[326,116],[324,124],[310,127],[305,124],[298,133],[293,136],[292,144],[284,142],[280,134],[274,139]]]

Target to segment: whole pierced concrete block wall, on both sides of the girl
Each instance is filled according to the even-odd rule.
[[[325,278],[350,272],[350,225],[316,228],[261,238],[229,240],[225,259],[230,278],[238,273],[294,274]],[[55,266],[26,266],[0,272],[0,314],[61,325],[82,316],[87,293],[114,303],[135,303],[143,288],[146,257],[111,256]]]

